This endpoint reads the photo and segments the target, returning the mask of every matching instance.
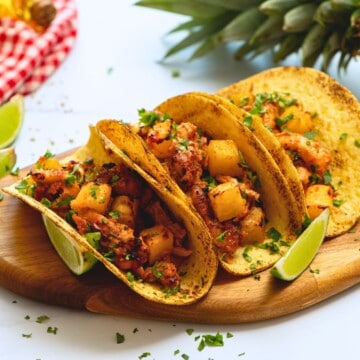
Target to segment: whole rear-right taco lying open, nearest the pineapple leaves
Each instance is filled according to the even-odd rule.
[[[255,135],[286,178],[294,184],[297,177],[310,218],[329,208],[328,237],[357,222],[360,104],[349,90],[318,70],[281,67],[217,94],[252,117]]]

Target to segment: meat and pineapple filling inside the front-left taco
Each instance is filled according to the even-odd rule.
[[[18,188],[69,222],[129,277],[179,289],[178,265],[191,255],[186,230],[123,164],[60,164],[46,154]]]

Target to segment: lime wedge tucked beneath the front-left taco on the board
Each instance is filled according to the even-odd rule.
[[[42,218],[51,243],[66,266],[76,275],[89,271],[97,259],[59,229],[48,217],[43,215]]]

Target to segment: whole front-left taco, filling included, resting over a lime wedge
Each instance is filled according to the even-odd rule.
[[[61,161],[41,156],[3,190],[40,211],[144,298],[193,303],[217,273],[212,239],[193,209],[134,166],[131,148],[125,141],[121,151],[107,149],[91,126],[85,146]]]

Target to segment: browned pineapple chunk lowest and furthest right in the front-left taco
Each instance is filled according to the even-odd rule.
[[[149,249],[149,263],[154,264],[170,254],[174,247],[174,235],[164,225],[155,225],[140,232]]]

